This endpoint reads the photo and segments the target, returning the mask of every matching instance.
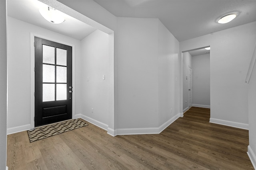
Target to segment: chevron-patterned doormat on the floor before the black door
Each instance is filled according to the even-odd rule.
[[[70,119],[68,121],[62,121],[42,127],[36,127],[34,130],[27,131],[28,138],[31,143],[87,125],[87,123],[81,121],[80,119]]]

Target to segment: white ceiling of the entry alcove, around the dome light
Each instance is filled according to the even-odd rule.
[[[42,7],[47,8],[48,6],[37,0],[7,0],[7,15],[78,40],[84,39],[96,30],[94,27],[66,14],[63,14],[65,22],[50,23],[39,13],[39,8]]]

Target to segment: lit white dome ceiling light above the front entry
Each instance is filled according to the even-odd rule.
[[[50,6],[48,6],[47,8],[40,8],[39,12],[44,17],[44,19],[46,19],[50,23],[58,24],[65,21],[62,13]]]

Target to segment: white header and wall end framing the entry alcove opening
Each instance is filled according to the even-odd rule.
[[[40,0],[46,4],[51,4],[51,6],[58,9],[60,6],[55,1],[49,0]],[[74,14],[74,12],[69,12],[68,8],[66,8],[66,14],[77,18],[78,20],[84,21],[89,25],[100,29],[106,33],[109,33],[109,70],[111,72],[109,76],[109,117],[108,117],[108,133],[114,135],[114,129],[117,128],[117,112],[118,106],[118,79],[117,79],[117,60],[118,60],[118,43],[116,38],[117,31],[117,17],[108,12],[105,8],[97,4],[94,0],[83,0],[83,1],[68,1],[68,0],[58,0],[62,4],[68,6],[68,8],[72,8],[79,12],[80,14],[86,16],[79,16],[79,14]],[[56,6],[55,6],[56,5]],[[62,7],[64,9],[64,7]],[[58,9],[62,10],[62,9]],[[87,19],[86,19],[87,18]],[[96,22],[95,22],[96,21]],[[111,30],[110,30],[111,29]],[[115,31],[115,36],[114,36]],[[115,47],[115,48],[114,48]]]

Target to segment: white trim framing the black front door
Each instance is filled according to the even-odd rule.
[[[56,43],[68,45],[72,47],[72,86],[73,86],[73,93],[72,93],[72,119],[74,119],[75,116],[75,95],[76,95],[76,85],[75,85],[75,45],[70,44],[67,42],[59,41],[56,39],[52,39],[49,37],[46,37],[44,35],[39,35],[37,33],[32,33],[30,32],[30,129],[34,129],[35,127],[35,121],[34,121],[34,116],[35,116],[35,72],[34,72],[34,67],[35,67],[35,49],[34,49],[34,39],[35,37],[39,37],[42,39],[46,39],[49,41],[54,41]]]

